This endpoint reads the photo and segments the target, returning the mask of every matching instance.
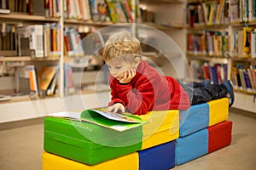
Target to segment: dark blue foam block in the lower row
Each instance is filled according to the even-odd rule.
[[[170,169],[175,166],[175,141],[138,151],[139,169]]]

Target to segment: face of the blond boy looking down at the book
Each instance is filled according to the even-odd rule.
[[[128,61],[111,60],[107,63],[110,74],[117,80],[121,80],[124,77],[125,71],[129,71],[131,68],[137,68],[136,62],[130,63]]]

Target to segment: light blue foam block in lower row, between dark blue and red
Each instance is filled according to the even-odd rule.
[[[194,160],[208,153],[207,128],[176,140],[176,165]]]

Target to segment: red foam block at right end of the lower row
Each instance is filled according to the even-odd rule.
[[[231,143],[232,122],[220,122],[212,127],[207,127],[207,129],[209,133],[208,153]]]

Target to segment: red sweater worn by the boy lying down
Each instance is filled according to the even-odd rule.
[[[187,110],[190,106],[189,95],[172,77],[159,74],[146,61],[141,61],[137,74],[131,82],[120,84],[110,75],[111,102],[121,103],[125,111],[144,115],[148,111]]]

